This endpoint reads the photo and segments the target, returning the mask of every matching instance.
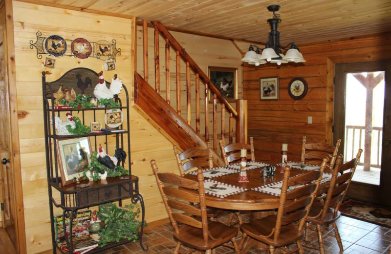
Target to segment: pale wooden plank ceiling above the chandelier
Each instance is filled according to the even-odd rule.
[[[135,16],[137,20],[266,42],[279,4],[281,43],[298,45],[391,32],[391,0],[41,0]]]

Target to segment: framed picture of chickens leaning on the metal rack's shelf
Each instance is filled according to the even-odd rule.
[[[71,184],[90,163],[91,143],[88,137],[57,139],[56,142],[61,182]]]

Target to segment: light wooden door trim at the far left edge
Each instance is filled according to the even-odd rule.
[[[16,91],[16,65],[15,65],[15,42],[14,42],[14,13],[12,0],[5,0],[5,33],[6,48],[5,53],[5,82],[8,87],[8,104],[9,104],[9,152],[10,152],[10,169],[14,179],[14,214],[15,214],[15,234],[18,254],[26,254],[26,233],[24,227],[24,206],[23,206],[23,189],[22,189],[22,169],[21,153],[19,146],[19,119],[17,106]],[[12,130],[12,131],[11,131]]]

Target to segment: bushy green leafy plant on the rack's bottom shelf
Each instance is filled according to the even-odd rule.
[[[141,221],[140,207],[134,204],[124,208],[116,204],[108,203],[99,206],[98,217],[105,223],[105,227],[99,234],[99,247],[106,246],[109,242],[119,242],[128,239],[135,242],[138,239]],[[145,222],[144,222],[145,223]],[[145,223],[145,226],[146,223]]]

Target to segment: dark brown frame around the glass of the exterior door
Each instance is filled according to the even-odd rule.
[[[356,62],[356,63],[337,63],[335,65],[335,86],[334,86],[334,114],[333,114],[333,141],[341,138],[340,153],[345,151],[345,95],[346,95],[346,73],[351,72],[362,72],[362,71],[387,71],[385,82],[390,84],[391,68],[388,63],[389,60],[378,60],[372,62]],[[365,66],[363,66],[365,64]],[[338,84],[338,85],[337,85]],[[339,85],[344,84],[344,85]],[[390,89],[388,89],[390,90]],[[387,89],[386,89],[387,91]],[[385,102],[386,102],[385,94]],[[384,110],[386,110],[386,103],[384,104]],[[388,109],[391,110],[391,109]],[[383,127],[385,125],[385,116],[383,120]],[[383,128],[384,129],[384,128]],[[385,132],[383,131],[383,138]],[[383,139],[384,143],[384,139]],[[382,156],[382,164],[385,160],[385,156]],[[380,171],[380,185],[371,185],[367,183],[352,182],[347,196],[350,198],[367,201],[370,203],[391,205],[387,201],[387,197],[382,193],[386,193],[390,185],[389,178],[391,177],[391,170],[385,170],[384,168]],[[385,192],[386,191],[386,192]],[[388,204],[387,204],[388,203]]]

